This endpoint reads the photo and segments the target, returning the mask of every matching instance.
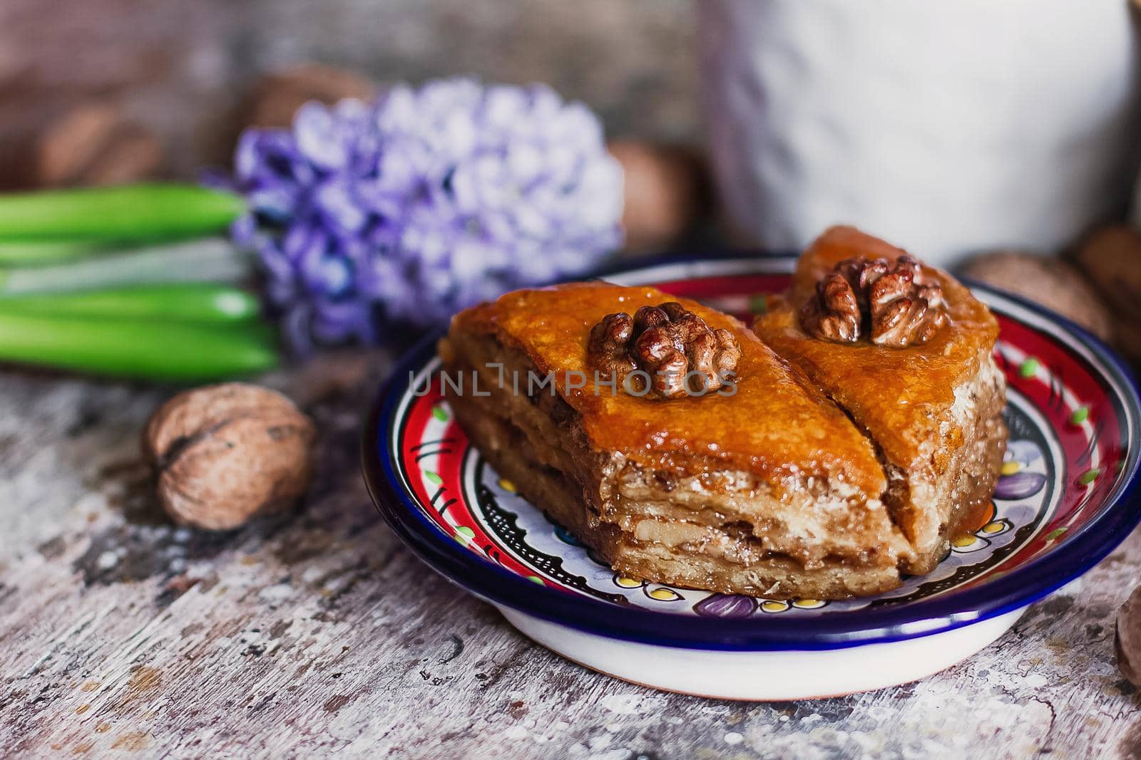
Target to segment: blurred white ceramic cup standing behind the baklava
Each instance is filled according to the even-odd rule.
[[[1124,212],[1141,148],[1128,0],[702,0],[734,232],[853,223],[932,263],[1058,250]]]

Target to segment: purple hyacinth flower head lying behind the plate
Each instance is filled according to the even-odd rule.
[[[601,124],[553,90],[471,80],[307,104],[249,130],[233,228],[298,348],[443,324],[518,287],[590,271],[622,243]]]

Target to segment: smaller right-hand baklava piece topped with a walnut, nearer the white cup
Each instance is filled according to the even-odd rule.
[[[990,311],[946,272],[836,227],[754,327],[872,443],[913,549],[901,570],[930,572],[988,508],[1006,447]]]

